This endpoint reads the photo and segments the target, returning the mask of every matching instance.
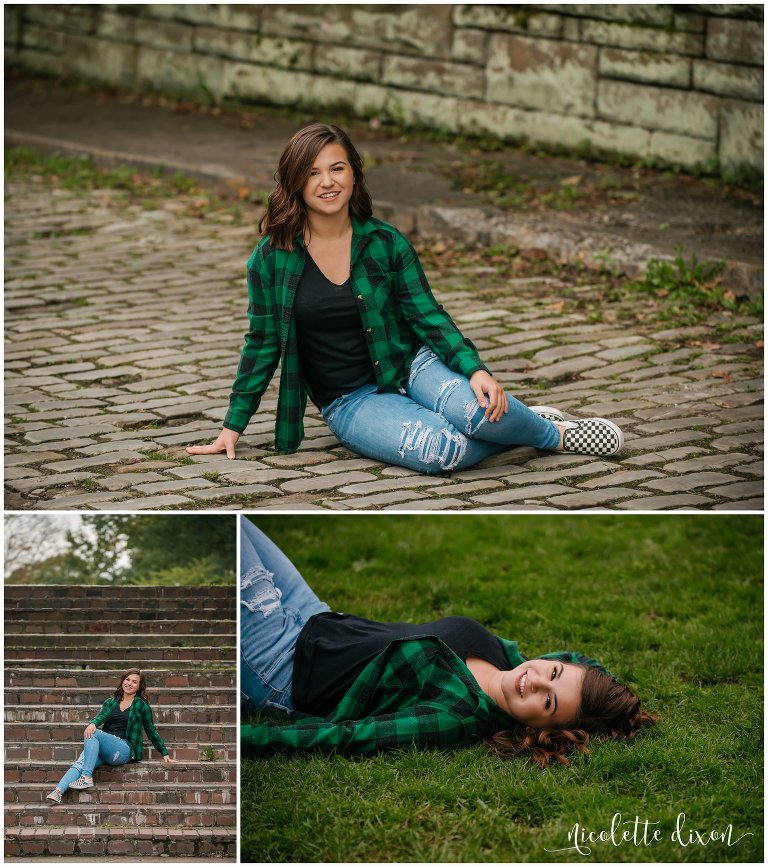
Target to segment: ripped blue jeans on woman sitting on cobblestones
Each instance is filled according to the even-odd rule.
[[[364,385],[324,406],[323,418],[348,449],[422,473],[471,467],[509,446],[552,451],[557,427],[507,393],[509,411],[489,422],[466,376],[426,346],[411,365],[404,393]]]

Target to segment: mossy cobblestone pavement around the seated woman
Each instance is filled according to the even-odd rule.
[[[237,459],[215,436],[245,328],[249,221],[31,179],[6,189],[8,509],[762,509],[762,323],[619,319],[595,286],[429,271],[484,360],[528,403],[616,419],[617,458],[509,449],[429,477],[358,457],[310,406],[277,455],[271,386]],[[566,300],[564,300],[566,299]],[[642,314],[644,301],[638,300]],[[650,321],[650,320],[649,320]]]

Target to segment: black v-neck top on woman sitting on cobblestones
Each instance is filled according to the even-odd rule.
[[[318,408],[376,382],[350,281],[332,283],[309,253],[293,313],[301,372]]]

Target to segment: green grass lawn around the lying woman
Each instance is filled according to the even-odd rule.
[[[254,522],[336,610],[465,614],[529,656],[583,650],[662,719],[545,771],[482,745],[243,760],[243,861],[762,861],[762,516]],[[582,844],[612,820],[616,845]],[[581,853],[553,851],[576,824]]]

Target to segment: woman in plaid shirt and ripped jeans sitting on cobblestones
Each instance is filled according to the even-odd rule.
[[[281,362],[278,451],[303,438],[307,397],[349,449],[425,473],[512,446],[613,455],[621,430],[526,407],[493,378],[437,303],[408,240],[372,216],[363,165],[339,127],[299,130],[248,261],[249,330],[223,430],[235,446]]]

